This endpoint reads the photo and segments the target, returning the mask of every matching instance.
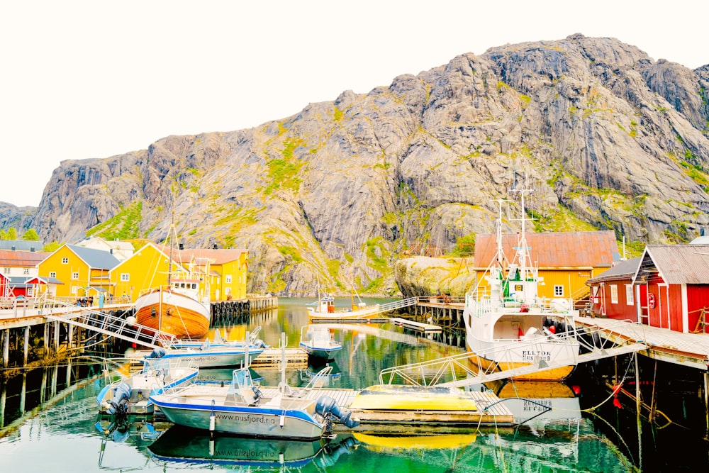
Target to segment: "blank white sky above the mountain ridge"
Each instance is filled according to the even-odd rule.
[[[251,128],[464,52],[574,33],[709,63],[709,1],[16,0],[0,3],[0,201],[62,160]]]

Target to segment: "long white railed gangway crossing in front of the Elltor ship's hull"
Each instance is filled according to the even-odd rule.
[[[510,357],[513,350],[525,348],[530,352],[539,352],[538,341],[515,340],[491,350],[460,353],[438,360],[385,368],[379,372],[379,383],[413,384],[415,386],[471,386],[498,379],[520,377],[557,367],[575,366],[647,349],[647,345],[637,341],[643,340],[643,338],[642,334],[637,333],[635,326],[619,323],[617,328],[616,343],[599,336],[601,331],[608,334],[608,326],[603,329],[572,330],[563,335],[552,335],[560,342],[574,338],[578,340],[581,347],[588,350],[570,357],[560,357],[552,361],[540,360],[535,357],[535,360],[529,365],[506,368],[513,365],[513,360]],[[496,360],[496,362],[489,362],[489,360]]]

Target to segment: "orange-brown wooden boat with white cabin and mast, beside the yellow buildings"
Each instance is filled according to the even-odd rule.
[[[172,262],[177,233],[170,224],[170,254],[167,286],[148,289],[135,300],[135,318],[140,325],[172,333],[177,338],[200,338],[206,335],[211,321],[209,301],[209,263],[203,272],[196,271],[194,261],[189,268],[179,267],[173,274]]]

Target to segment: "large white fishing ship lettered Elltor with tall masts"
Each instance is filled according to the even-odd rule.
[[[503,251],[500,202],[496,256],[484,277],[465,296],[466,344],[475,354],[471,361],[487,372],[554,363],[562,366],[511,377],[560,381],[576,366],[579,341],[568,329],[575,328],[579,311],[569,299],[543,299],[538,294],[540,278],[537,268],[530,266],[530,247],[525,238],[525,191],[520,191],[522,228],[512,262]]]

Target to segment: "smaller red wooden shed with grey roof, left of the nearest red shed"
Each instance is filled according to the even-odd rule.
[[[646,287],[634,286],[640,257],[615,262],[612,268],[588,279],[591,287],[591,312],[596,316],[630,320],[642,318]]]

